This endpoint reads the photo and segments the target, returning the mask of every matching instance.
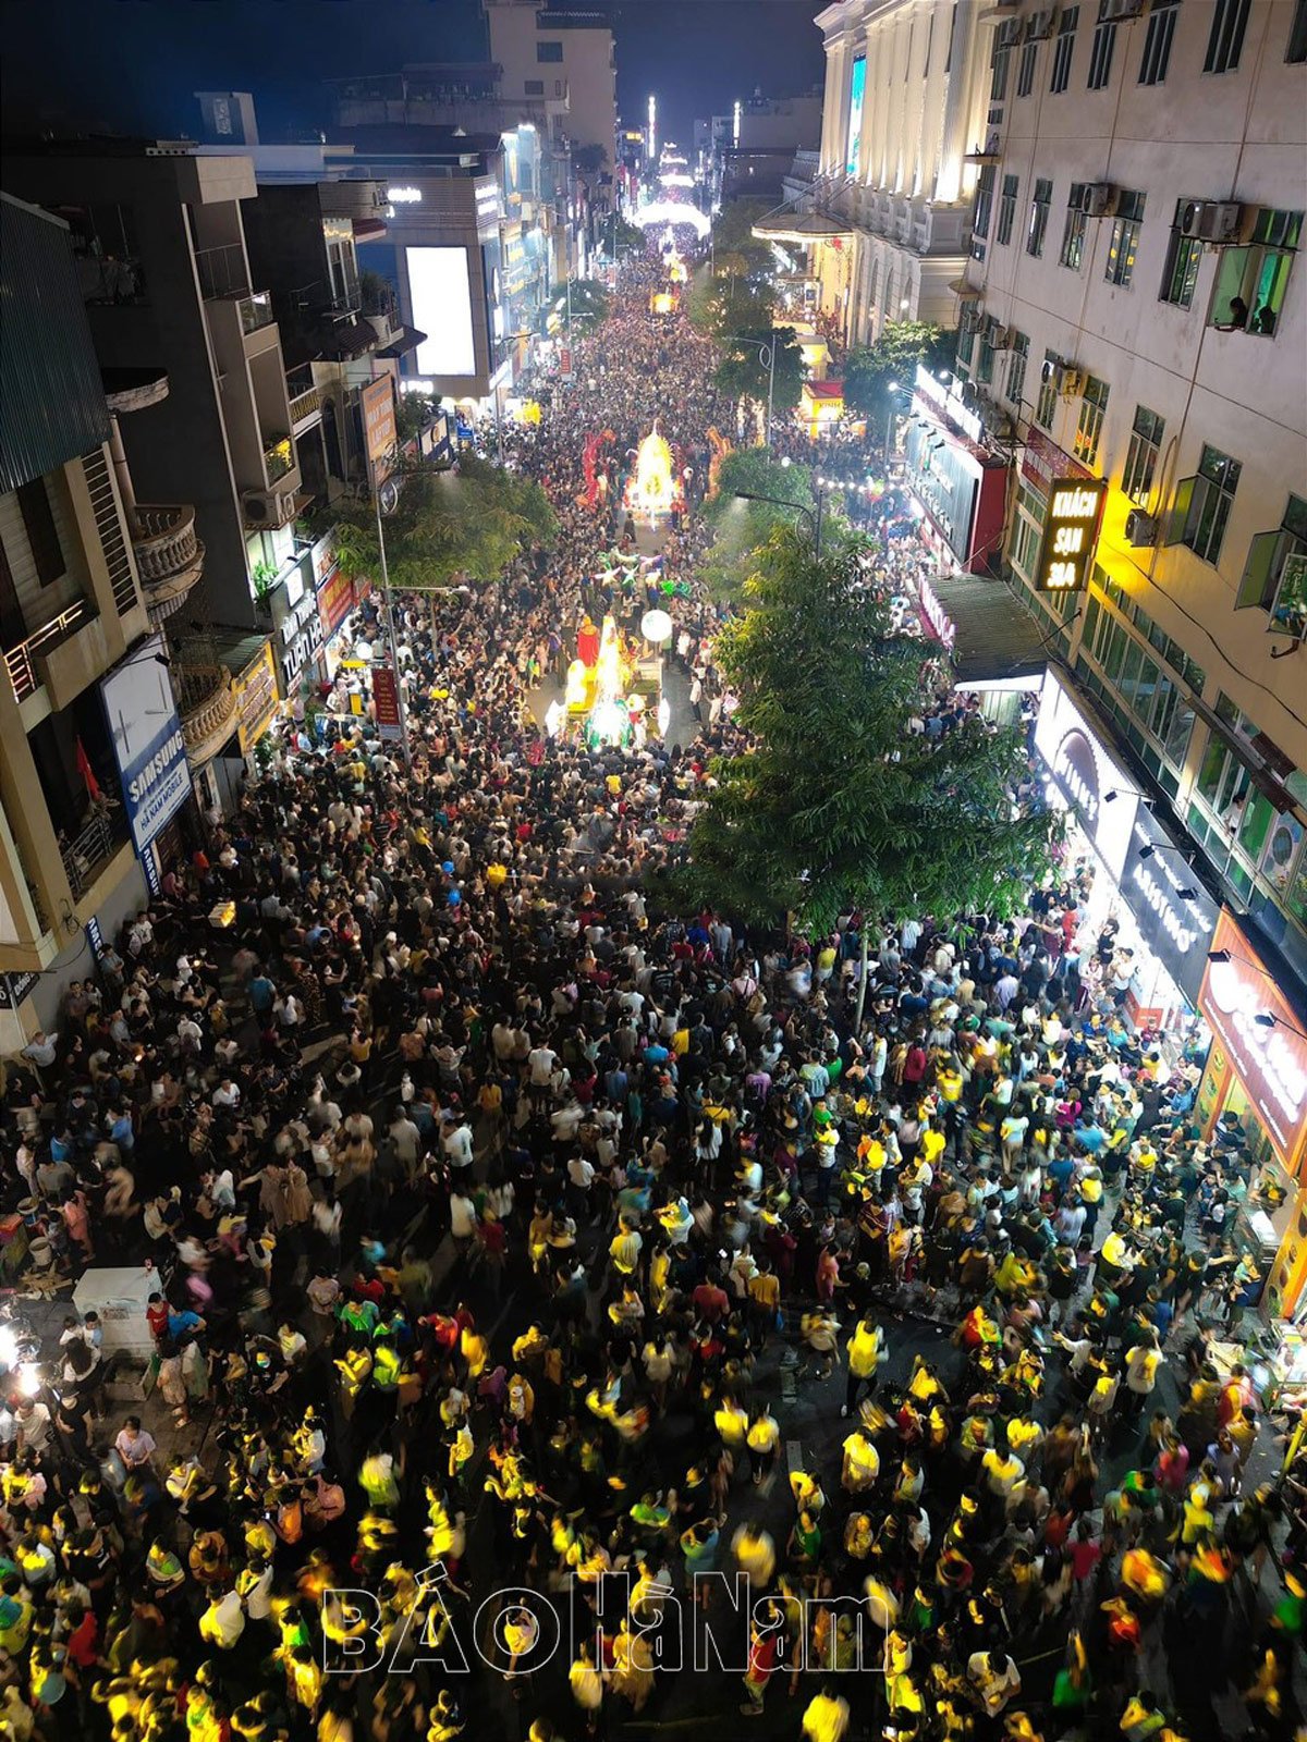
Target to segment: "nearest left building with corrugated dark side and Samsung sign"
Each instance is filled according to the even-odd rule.
[[[0,219],[0,1050],[10,1052],[52,1023],[66,976],[91,969],[87,939],[99,948],[145,902],[138,854],[153,854],[185,801],[178,716],[160,643],[146,638],[204,552],[190,505],[134,500],[68,223],[7,193]],[[119,402],[132,390],[159,387],[120,380]],[[159,756],[148,794],[125,779],[141,733]]]

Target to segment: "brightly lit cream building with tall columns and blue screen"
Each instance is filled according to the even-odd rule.
[[[809,249],[847,345],[875,341],[887,321],[957,321],[993,16],[979,0],[836,0],[817,14],[821,150],[786,186],[800,223],[777,216],[770,230]]]

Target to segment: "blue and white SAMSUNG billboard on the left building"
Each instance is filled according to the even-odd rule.
[[[127,824],[143,859],[190,798],[186,740],[162,652],[162,636],[152,636],[99,686]]]

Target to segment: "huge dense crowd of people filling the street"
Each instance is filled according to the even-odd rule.
[[[638,751],[542,732],[584,617],[664,582],[669,658],[723,697],[694,577],[727,418],[662,272],[509,439],[556,544],[401,603],[411,768],[366,714],[291,718],[7,1071],[54,1268],[157,1275],[143,1401],[94,1315],[10,1361],[17,1742],[1298,1721],[1248,1160],[1195,1138],[1201,1057],[1131,1028],[1086,868],[1018,923],[666,915],[730,709]],[[687,509],[624,589],[654,420]]]

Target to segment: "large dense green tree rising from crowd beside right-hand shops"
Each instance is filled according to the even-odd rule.
[[[723,760],[681,894],[826,934],[840,913],[1012,913],[1047,866],[1049,820],[1014,815],[1019,730],[908,730],[943,681],[894,631],[866,540],[772,531],[748,610],[718,638],[756,749]]]

